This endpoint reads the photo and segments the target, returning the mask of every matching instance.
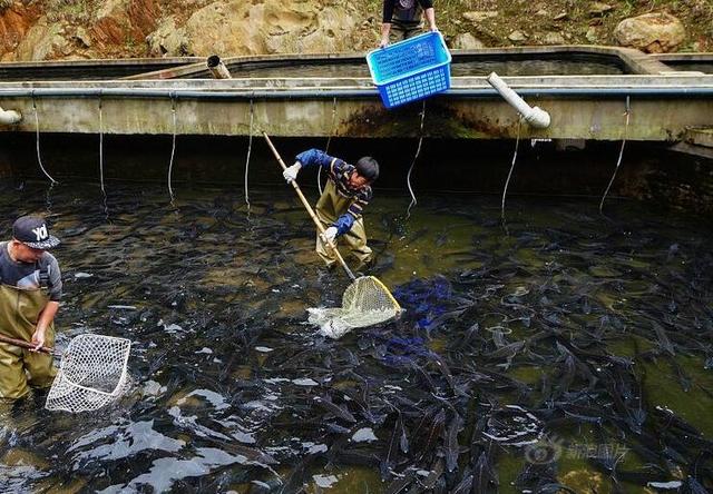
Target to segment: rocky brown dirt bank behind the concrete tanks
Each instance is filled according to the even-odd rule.
[[[664,12],[685,30],[674,50],[713,50],[711,0],[437,0],[436,11],[453,48],[616,46],[622,20]],[[0,59],[361,51],[380,23],[380,0],[0,0]]]

